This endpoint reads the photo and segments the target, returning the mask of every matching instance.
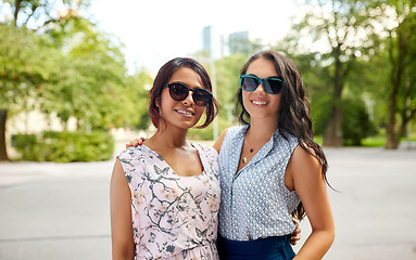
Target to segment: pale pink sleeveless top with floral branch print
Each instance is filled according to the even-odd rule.
[[[119,156],[131,191],[135,259],[218,259],[217,152],[191,143],[203,172],[181,177],[146,145]]]

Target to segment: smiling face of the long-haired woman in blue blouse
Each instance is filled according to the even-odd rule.
[[[260,57],[253,61],[247,69],[247,75],[254,75],[259,78],[278,77],[272,61]],[[256,118],[278,122],[281,94],[268,94],[264,91],[263,83],[253,92],[242,91],[242,103],[250,114],[251,120]]]

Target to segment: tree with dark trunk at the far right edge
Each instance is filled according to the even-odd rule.
[[[394,150],[416,115],[416,1],[378,1],[376,10],[389,21],[380,24],[390,65],[386,148]]]

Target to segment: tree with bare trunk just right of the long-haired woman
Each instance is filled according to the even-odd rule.
[[[340,146],[342,144],[342,91],[348,76],[355,65],[356,58],[368,50],[373,42],[368,35],[373,31],[366,15],[367,3],[355,0],[316,0],[306,1],[310,9],[301,23],[293,26],[293,35],[289,36],[299,50],[311,52],[326,65],[327,77],[331,88],[327,89],[330,99],[326,99],[329,119],[325,126],[324,145]],[[301,35],[312,39],[302,47]],[[293,41],[293,40],[297,41]],[[312,41],[311,41],[312,40]],[[293,48],[292,48],[293,49]]]

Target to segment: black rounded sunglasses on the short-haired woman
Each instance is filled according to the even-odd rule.
[[[168,83],[167,88],[169,88],[171,98],[175,101],[185,100],[188,96],[189,91],[192,91],[193,102],[199,106],[205,106],[212,101],[212,94],[202,88],[191,89],[182,82]]]

